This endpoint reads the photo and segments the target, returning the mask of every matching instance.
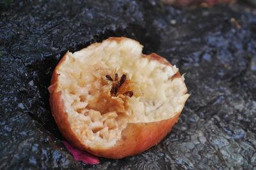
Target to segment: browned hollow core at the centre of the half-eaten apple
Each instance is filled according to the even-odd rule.
[[[99,73],[99,71],[97,72]],[[130,115],[130,104],[134,98],[142,94],[138,83],[130,80],[128,74],[122,71],[108,70],[106,75],[104,71],[100,72],[102,72],[100,73],[102,76],[97,78],[98,85],[91,87],[89,91],[93,97],[88,102],[86,109],[99,111],[101,114],[115,111],[118,115]]]

